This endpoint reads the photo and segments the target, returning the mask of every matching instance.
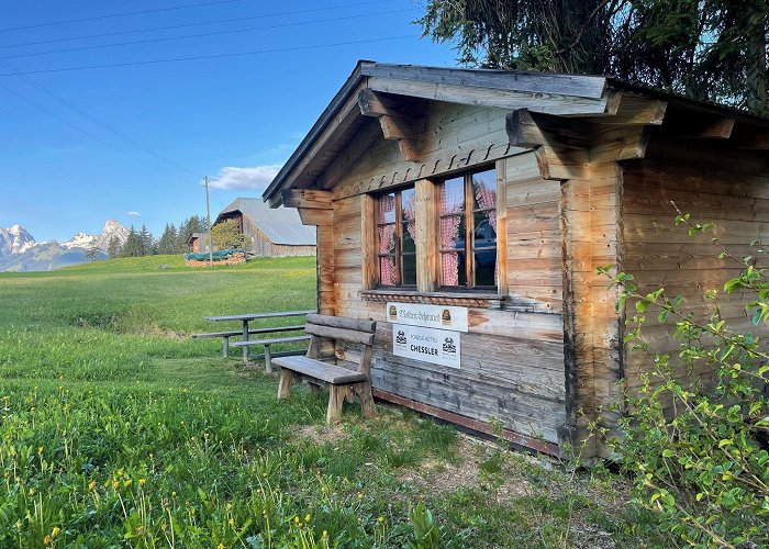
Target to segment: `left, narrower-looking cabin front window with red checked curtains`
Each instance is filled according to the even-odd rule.
[[[413,187],[377,197],[380,285],[416,285],[415,203]]]

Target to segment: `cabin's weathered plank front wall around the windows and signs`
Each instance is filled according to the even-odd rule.
[[[534,153],[509,145],[506,112],[431,103],[417,144],[420,163],[405,163],[399,144],[381,137],[376,120],[360,130],[326,170],[327,178],[342,172],[339,165],[349,165],[333,181],[333,225],[317,227],[319,306],[326,314],[378,321],[372,382],[380,396],[470,421],[497,418],[511,433],[528,437],[523,444],[542,438],[554,451],[568,430],[561,191],[558,181],[540,177]],[[369,148],[360,155],[350,152],[359,143],[369,143]],[[499,270],[501,294],[431,295],[370,288],[366,266],[371,255],[376,259],[376,250],[370,249],[374,225],[368,193],[472,166],[497,168],[497,233],[498,246],[503,248],[498,254],[506,255]],[[404,300],[468,307],[470,327],[461,335],[460,369],[392,355],[386,302]],[[353,352],[337,349],[343,358]]]

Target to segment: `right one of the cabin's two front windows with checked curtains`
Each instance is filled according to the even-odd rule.
[[[495,289],[495,170],[464,173],[438,184],[441,285]]]

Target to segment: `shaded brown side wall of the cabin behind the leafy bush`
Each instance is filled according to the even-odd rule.
[[[766,157],[760,153],[729,149],[723,145],[659,138],[651,142],[646,158],[623,165],[622,268],[633,273],[642,293],[664,287],[670,296],[681,294],[687,311],[705,313],[702,295],[718,290],[722,315],[737,330],[762,332],[753,326],[745,305],[748,294],[725,294],[723,284],[740,272],[732,259],[720,259],[722,249],[709,237],[690,237],[686,226],[676,227],[676,208],[690,213],[693,222],[714,222],[717,237],[737,257],[755,256],[751,242],[769,237],[769,178]],[[759,265],[766,267],[766,265]],[[631,305],[628,305],[631,306]],[[628,311],[628,315],[631,312]],[[651,352],[673,357],[678,343],[672,338],[675,323],[661,325],[656,314],[647,314],[644,337]],[[637,389],[650,358],[625,349],[628,389]],[[679,377],[694,376],[707,384],[707,368]]]

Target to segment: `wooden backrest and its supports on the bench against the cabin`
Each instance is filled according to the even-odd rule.
[[[307,316],[304,332],[313,337],[312,341],[310,343],[310,347],[308,348],[307,356],[310,358],[320,358],[320,338],[361,344],[364,346],[364,352],[360,358],[360,363],[358,365],[358,371],[368,376],[371,369],[371,347],[374,346],[376,330],[376,321],[348,318],[346,316],[328,316],[314,313],[309,314]]]

